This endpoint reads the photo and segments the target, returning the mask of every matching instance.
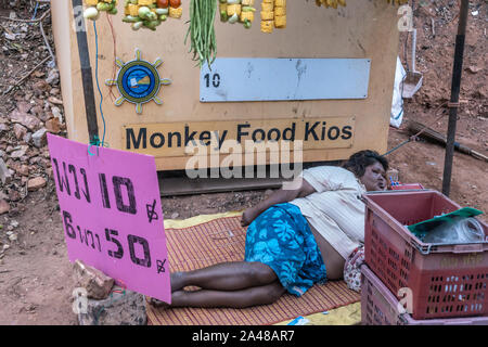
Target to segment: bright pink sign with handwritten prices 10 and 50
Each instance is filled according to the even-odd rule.
[[[50,133],[48,144],[69,260],[84,260],[119,285],[170,304],[154,157],[89,149]]]

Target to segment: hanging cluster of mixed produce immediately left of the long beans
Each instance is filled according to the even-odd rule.
[[[131,23],[133,30],[156,30],[168,16],[181,18],[182,13],[181,0],[126,0],[123,22]]]

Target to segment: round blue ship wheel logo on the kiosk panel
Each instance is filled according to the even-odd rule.
[[[118,57],[115,60],[120,69],[117,79],[107,79],[106,86],[117,86],[120,98],[115,100],[115,105],[120,106],[124,101],[136,104],[136,112],[142,113],[142,104],[154,101],[156,104],[163,104],[163,100],[157,97],[160,86],[171,83],[170,79],[160,78],[157,67],[163,64],[162,59],[157,59],[153,64],[141,59],[141,51],[136,50],[136,60],[124,63]]]

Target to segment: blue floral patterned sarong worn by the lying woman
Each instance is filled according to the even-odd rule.
[[[277,273],[286,291],[305,294],[326,280],[319,246],[307,219],[292,204],[278,204],[247,228],[245,261],[259,261]]]

